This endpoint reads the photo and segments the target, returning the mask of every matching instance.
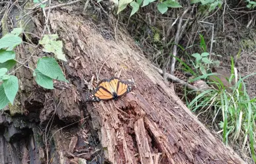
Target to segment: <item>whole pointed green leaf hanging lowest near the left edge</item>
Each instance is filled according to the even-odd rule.
[[[19,90],[18,78],[16,76],[10,76],[8,80],[3,80],[3,88],[5,89],[5,95],[13,105],[13,101]]]

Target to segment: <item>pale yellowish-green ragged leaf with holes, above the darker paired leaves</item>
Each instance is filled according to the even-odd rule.
[[[56,41],[58,38],[57,34],[44,35],[44,38],[42,38],[39,43],[44,46],[43,51],[54,53],[57,59],[67,61],[62,51],[62,41]]]

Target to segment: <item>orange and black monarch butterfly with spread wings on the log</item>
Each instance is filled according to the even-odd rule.
[[[101,101],[114,99],[130,92],[134,87],[134,82],[122,81],[119,78],[113,77],[110,79],[101,80],[97,88],[87,94],[87,101]]]

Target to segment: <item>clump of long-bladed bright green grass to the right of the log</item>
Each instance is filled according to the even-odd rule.
[[[193,55],[196,60],[207,57],[208,53]],[[207,76],[213,76],[216,73],[203,74],[190,80],[193,82]],[[251,156],[254,161],[255,157],[255,119],[256,119],[256,98],[249,99],[243,80],[249,76],[255,76],[256,73],[250,74],[239,80],[232,87],[231,92],[227,92],[221,80],[216,80],[210,84],[217,86],[217,89],[210,89],[198,94],[191,102],[187,99],[187,105],[191,111],[198,113],[208,113],[206,115],[213,116],[212,124],[217,122],[222,129],[224,143],[242,142],[244,146],[250,148]],[[234,74],[234,61],[232,59],[232,78],[238,76]],[[243,90],[241,90],[243,86]],[[239,141],[237,141],[239,140]]]

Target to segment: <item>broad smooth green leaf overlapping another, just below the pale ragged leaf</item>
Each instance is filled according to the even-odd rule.
[[[37,69],[45,76],[68,82],[62,73],[62,69],[53,57],[42,57],[38,59]]]

